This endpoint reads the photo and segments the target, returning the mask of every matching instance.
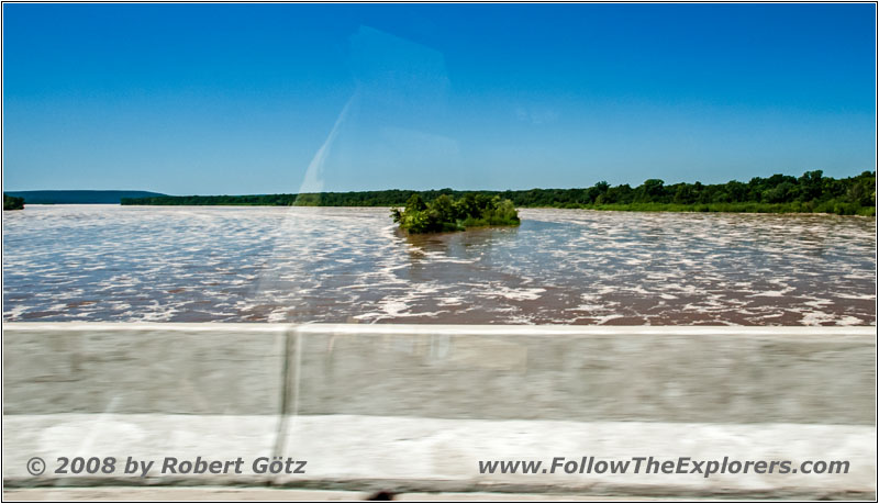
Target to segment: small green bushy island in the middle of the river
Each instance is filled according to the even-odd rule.
[[[415,193],[409,198],[403,211],[391,209],[391,217],[401,229],[413,234],[520,224],[512,201],[475,193],[467,193],[458,200],[441,194],[427,203]]]

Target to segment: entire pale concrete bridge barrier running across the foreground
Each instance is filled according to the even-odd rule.
[[[7,485],[871,497],[874,327],[3,326]],[[56,474],[58,457],[304,473]],[[488,474],[480,460],[847,460],[846,474]],[[27,461],[49,471],[34,477]],[[548,467],[548,466],[544,466]]]

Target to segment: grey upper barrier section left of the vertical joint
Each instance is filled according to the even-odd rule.
[[[3,414],[281,411],[289,328],[3,325]]]

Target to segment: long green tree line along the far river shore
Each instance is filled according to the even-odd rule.
[[[876,172],[834,179],[821,170],[801,177],[774,175],[748,182],[666,184],[648,179],[637,187],[598,182],[580,189],[507,191],[386,190],[255,195],[183,195],[123,198],[123,205],[280,205],[280,206],[403,206],[413,194],[426,203],[445,195],[467,194],[510,200],[516,208],[557,208],[670,212],[832,213],[876,215]]]

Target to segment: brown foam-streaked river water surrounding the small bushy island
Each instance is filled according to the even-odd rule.
[[[388,209],[27,205],[3,320],[876,324],[875,219],[520,216],[407,237]]]

